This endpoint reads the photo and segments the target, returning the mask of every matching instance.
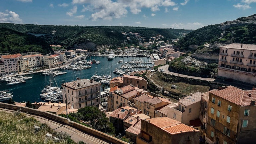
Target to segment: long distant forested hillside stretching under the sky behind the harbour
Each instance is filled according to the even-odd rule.
[[[62,45],[64,48],[79,48],[91,51],[98,48],[117,48],[127,44],[138,44],[139,41],[127,41],[121,32],[139,33],[149,39],[155,35],[163,35],[163,40],[180,38],[182,33],[192,30],[184,29],[157,29],[127,26],[54,26],[33,24],[0,23],[0,28],[11,29],[23,34],[32,34],[44,39],[47,44]]]

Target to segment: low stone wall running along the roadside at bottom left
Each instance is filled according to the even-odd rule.
[[[0,108],[6,108],[6,109],[11,109],[11,110],[20,110],[20,111],[32,113],[32,114],[35,114],[35,115],[45,116],[45,117],[48,117],[48,118],[51,118],[51,119],[63,122],[65,124],[71,125],[71,126],[73,126],[75,128],[83,130],[83,131],[85,131],[85,132],[87,132],[89,134],[98,136],[98,137],[100,137],[102,139],[105,139],[107,141],[110,141],[112,143],[115,143],[115,144],[128,144],[128,143],[126,143],[126,142],[124,142],[122,140],[119,140],[119,139],[117,139],[115,137],[107,135],[107,134],[105,134],[103,132],[97,131],[95,129],[92,129],[90,127],[81,125],[79,123],[76,123],[76,122],[73,122],[73,121],[70,121],[70,120],[67,120],[64,117],[61,117],[61,116],[58,116],[58,115],[55,115],[55,114],[52,114],[52,113],[49,113],[49,112],[44,112],[44,111],[40,111],[40,110],[28,108],[28,107],[11,105],[11,104],[1,103],[1,102],[0,102]]]

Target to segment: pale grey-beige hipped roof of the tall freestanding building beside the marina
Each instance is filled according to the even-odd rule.
[[[92,83],[90,82],[91,80],[89,79],[80,79],[80,80],[76,80],[76,81],[71,81],[71,82],[67,82],[66,86],[72,89],[81,89],[81,88],[85,88],[88,86],[93,86],[93,85],[98,85],[100,84],[97,81],[93,81]],[[78,84],[80,84],[78,86]],[[65,83],[61,84],[62,86],[65,86]]]

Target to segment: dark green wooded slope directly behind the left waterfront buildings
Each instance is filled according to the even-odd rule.
[[[47,54],[52,49],[41,37],[0,28],[0,53],[40,52]]]

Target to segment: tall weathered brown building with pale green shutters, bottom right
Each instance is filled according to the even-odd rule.
[[[210,92],[206,143],[255,143],[255,100],[256,88],[225,86]]]

